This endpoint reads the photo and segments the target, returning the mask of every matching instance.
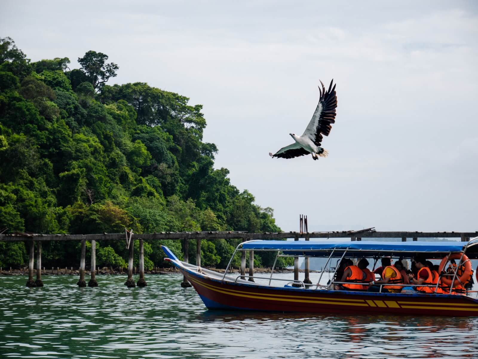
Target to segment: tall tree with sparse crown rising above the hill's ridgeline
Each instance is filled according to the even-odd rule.
[[[97,53],[96,51],[88,51],[85,56],[78,57],[78,63],[81,69],[85,71],[91,84],[95,90],[99,90],[109,80],[110,77],[116,76],[116,70],[120,67],[114,62],[106,64],[108,55]]]

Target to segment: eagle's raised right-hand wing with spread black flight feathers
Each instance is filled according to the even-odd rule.
[[[320,81],[320,80],[319,80]],[[320,98],[317,108],[315,109],[314,115],[310,120],[307,128],[305,129],[302,136],[307,136],[310,138],[316,146],[320,146],[322,142],[322,135],[328,136],[330,130],[332,129],[331,123],[335,123],[335,116],[337,108],[337,94],[335,92],[335,85],[332,87],[334,79],[330,81],[330,86],[326,91],[324,84],[320,81],[322,85],[322,90],[319,86]]]

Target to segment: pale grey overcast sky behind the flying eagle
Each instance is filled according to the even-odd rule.
[[[3,1],[32,61],[88,50],[204,105],[216,168],[282,230],[478,230],[474,1]],[[337,82],[329,157],[272,159]]]

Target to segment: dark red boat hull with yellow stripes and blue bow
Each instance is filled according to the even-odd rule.
[[[266,287],[231,283],[179,268],[208,309],[353,315],[478,316],[478,300],[465,295],[393,294]]]

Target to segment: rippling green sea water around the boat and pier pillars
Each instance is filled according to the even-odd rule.
[[[181,275],[0,277],[1,358],[478,358],[478,318],[208,311]]]

